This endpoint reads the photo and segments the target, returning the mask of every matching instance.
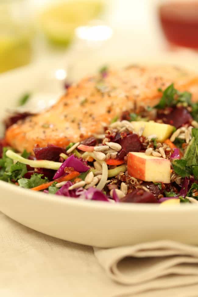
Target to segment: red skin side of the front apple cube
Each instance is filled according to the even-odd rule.
[[[134,156],[133,154],[129,153],[127,161],[127,170],[130,176],[133,176],[136,179],[145,180],[145,166],[146,159]]]

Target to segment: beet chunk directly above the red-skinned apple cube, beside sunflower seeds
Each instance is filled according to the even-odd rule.
[[[141,150],[141,142],[137,134],[128,134],[118,141],[122,146],[122,150],[129,152],[139,152]]]

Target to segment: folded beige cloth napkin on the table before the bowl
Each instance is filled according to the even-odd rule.
[[[116,297],[198,296],[198,247],[165,240],[94,253],[113,281],[127,285]]]

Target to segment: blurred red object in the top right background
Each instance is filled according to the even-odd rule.
[[[169,42],[198,48],[198,1],[167,2],[159,7],[159,15]]]

